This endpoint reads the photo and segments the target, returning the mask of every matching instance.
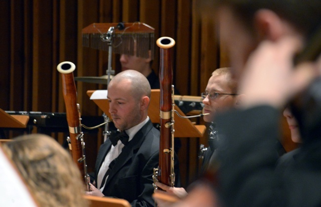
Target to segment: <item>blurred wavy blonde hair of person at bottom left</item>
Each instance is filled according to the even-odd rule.
[[[44,134],[29,134],[3,144],[41,207],[87,207],[84,184],[70,154]]]

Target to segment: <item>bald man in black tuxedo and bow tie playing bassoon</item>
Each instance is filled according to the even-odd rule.
[[[147,79],[134,70],[117,74],[109,83],[109,112],[120,133],[112,132],[101,145],[95,186],[90,184],[87,195],[121,198],[132,206],[154,206],[152,175],[159,166],[160,131],[147,115],[150,95]]]

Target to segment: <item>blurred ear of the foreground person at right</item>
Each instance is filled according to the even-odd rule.
[[[254,21],[260,40],[276,41],[284,34],[283,21],[272,10],[258,10],[255,13]]]

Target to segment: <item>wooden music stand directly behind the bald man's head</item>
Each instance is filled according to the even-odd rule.
[[[100,93],[100,97],[92,97],[94,92]],[[87,95],[110,119],[112,119],[109,113],[107,90],[97,90],[97,92],[95,90],[88,90]],[[182,116],[185,116],[176,105],[175,110],[178,111]],[[152,123],[160,123],[160,89],[152,89],[148,116]],[[174,120],[175,137],[203,137],[206,130],[205,125],[194,125],[189,119],[180,118],[176,113],[174,115]]]

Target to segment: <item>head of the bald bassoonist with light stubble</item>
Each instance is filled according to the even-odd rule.
[[[147,118],[151,86],[134,70],[117,74],[108,85],[109,113],[115,126],[127,130]]]

